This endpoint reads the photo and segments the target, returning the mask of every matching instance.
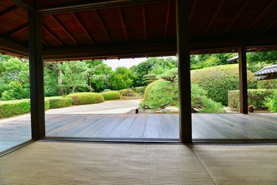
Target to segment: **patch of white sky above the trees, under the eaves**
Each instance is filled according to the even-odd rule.
[[[166,58],[166,57],[165,57]],[[176,58],[173,56],[172,58]],[[112,70],[115,70],[116,67],[127,67],[130,68],[134,65],[137,65],[141,62],[144,62],[145,60],[148,60],[148,58],[125,58],[125,59],[110,59],[110,60],[104,60],[103,62],[107,64],[109,67],[111,67]]]

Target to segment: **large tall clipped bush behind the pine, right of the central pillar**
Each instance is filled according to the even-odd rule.
[[[208,98],[228,105],[228,91],[239,88],[238,64],[192,70],[191,82],[205,89]],[[250,71],[247,73],[247,82],[249,89],[257,88],[257,81],[253,80],[253,73]]]

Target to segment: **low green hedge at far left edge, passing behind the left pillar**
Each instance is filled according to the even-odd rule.
[[[49,109],[49,100],[44,101],[44,108]],[[0,118],[8,118],[30,112],[30,100],[10,100],[0,103]]]

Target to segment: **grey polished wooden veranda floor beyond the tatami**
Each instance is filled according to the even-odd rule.
[[[179,114],[48,114],[46,136],[179,139]],[[0,152],[30,139],[30,117],[0,123]],[[277,139],[277,114],[193,114],[193,139]]]

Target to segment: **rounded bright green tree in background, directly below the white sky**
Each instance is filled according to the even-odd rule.
[[[118,67],[116,71],[111,74],[111,85],[114,89],[127,89],[132,85],[132,72],[126,67]]]

